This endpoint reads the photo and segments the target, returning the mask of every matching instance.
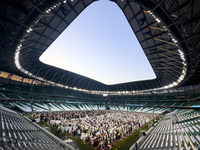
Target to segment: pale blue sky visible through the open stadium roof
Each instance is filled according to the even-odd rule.
[[[107,85],[156,78],[122,10],[108,0],[89,5],[40,60]]]

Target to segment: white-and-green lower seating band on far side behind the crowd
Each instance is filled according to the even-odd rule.
[[[0,103],[7,106],[17,106],[25,112],[31,112],[32,109],[37,112],[43,111],[87,111],[87,110],[105,110],[105,105],[93,105],[93,104],[69,104],[69,103]],[[111,110],[132,111],[132,112],[144,112],[144,113],[163,113],[166,108],[142,108],[131,106],[110,106]]]

